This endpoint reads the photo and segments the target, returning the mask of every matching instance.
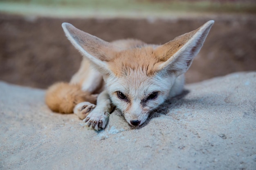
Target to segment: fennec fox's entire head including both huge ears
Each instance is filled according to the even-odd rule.
[[[67,38],[103,75],[112,103],[133,126],[183,88],[175,85],[198,54],[214,21],[164,45],[134,43],[122,48],[63,23]],[[136,41],[137,42],[137,41]],[[182,78],[180,78],[182,79]]]

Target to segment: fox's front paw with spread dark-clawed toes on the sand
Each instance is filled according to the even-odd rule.
[[[105,129],[110,114],[106,113],[104,110],[97,111],[96,109],[94,109],[94,111],[92,111],[83,121],[88,127],[91,126],[92,129],[99,131],[101,129]]]

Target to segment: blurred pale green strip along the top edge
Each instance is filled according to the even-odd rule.
[[[253,2],[150,0],[0,0],[0,11],[18,14],[77,16],[163,16],[173,13],[256,13]]]

